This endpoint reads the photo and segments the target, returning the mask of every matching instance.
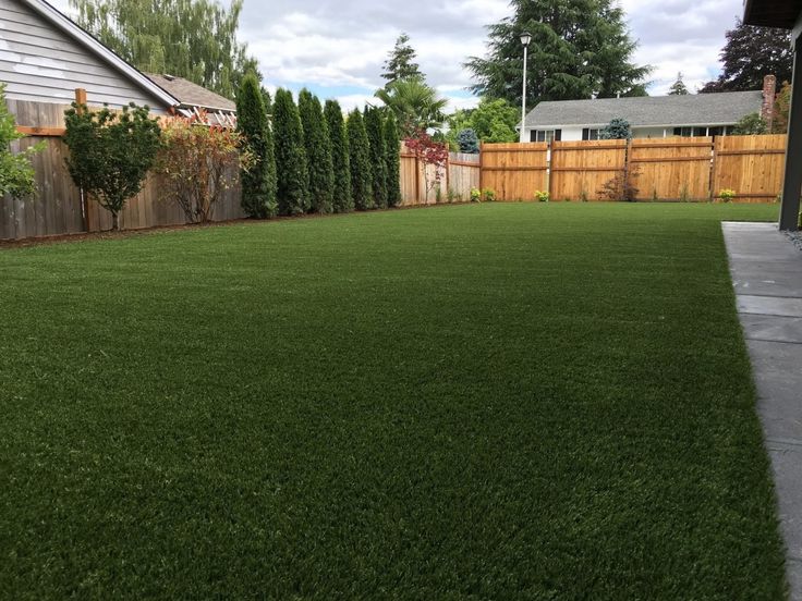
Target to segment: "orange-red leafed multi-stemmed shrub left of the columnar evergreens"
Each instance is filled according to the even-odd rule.
[[[162,122],[165,144],[157,168],[163,175],[162,198],[181,207],[191,223],[210,221],[240,172],[259,167],[242,134],[205,121],[202,114]]]

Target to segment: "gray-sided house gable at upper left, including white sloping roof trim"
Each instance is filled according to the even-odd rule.
[[[147,105],[168,113],[179,101],[44,0],[0,0],[0,82],[7,98],[70,103]]]

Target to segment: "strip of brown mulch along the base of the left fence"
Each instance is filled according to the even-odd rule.
[[[159,233],[181,232],[185,230],[203,230],[207,228],[224,228],[228,225],[256,225],[259,223],[278,223],[281,221],[297,221],[303,219],[336,219],[353,214],[375,214],[379,212],[404,211],[410,209],[434,209],[446,207],[458,207],[471,205],[472,203],[440,203],[439,205],[406,205],[403,207],[392,207],[390,209],[379,209],[369,211],[351,211],[347,213],[331,214],[299,214],[293,217],[274,217],[271,219],[228,219],[224,221],[212,221],[209,223],[184,223],[177,225],[156,225],[154,228],[142,228],[137,230],[121,230],[119,232],[76,232],[74,234],[53,234],[49,236],[36,236],[21,240],[0,240],[0,250],[7,248],[27,248],[32,246],[50,246],[56,244],[71,244],[78,242],[94,242],[106,240],[124,240],[135,236],[146,236]],[[475,204],[475,203],[473,203]]]

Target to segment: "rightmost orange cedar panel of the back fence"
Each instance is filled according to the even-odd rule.
[[[787,136],[722,136],[716,138],[713,194],[736,191],[737,203],[776,200],[782,188]]]

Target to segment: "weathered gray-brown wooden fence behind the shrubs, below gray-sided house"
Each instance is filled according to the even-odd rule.
[[[82,199],[64,164],[69,149],[61,140],[66,105],[7,100],[20,130],[29,134],[14,145],[16,149],[45,143],[45,149],[33,159],[38,194],[32,199],[0,197],[0,240],[100,232],[111,229],[111,216],[97,203]],[[138,196],[120,213],[125,230],[180,225],[186,223],[183,211],[159,194],[159,179],[148,179]],[[222,221],[244,217],[240,208],[240,189],[224,193],[215,208],[214,219]]]

